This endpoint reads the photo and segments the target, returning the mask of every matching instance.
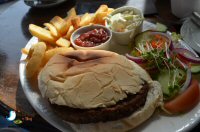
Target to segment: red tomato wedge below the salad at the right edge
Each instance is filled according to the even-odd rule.
[[[199,99],[199,83],[197,80],[192,80],[189,88],[175,99],[165,103],[164,108],[172,114],[187,112],[199,103]]]

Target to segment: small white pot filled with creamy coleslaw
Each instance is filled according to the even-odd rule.
[[[106,27],[112,30],[113,39],[116,43],[128,45],[134,36],[141,32],[143,24],[142,12],[131,6],[115,9],[106,18]]]

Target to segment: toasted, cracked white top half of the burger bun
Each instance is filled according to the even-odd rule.
[[[52,104],[80,109],[115,105],[149,81],[149,74],[136,63],[101,50],[55,55],[38,78],[43,97]]]

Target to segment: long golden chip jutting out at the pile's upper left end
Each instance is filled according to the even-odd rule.
[[[55,43],[56,39],[51,35],[51,32],[41,28],[37,25],[30,24],[29,31],[33,36],[38,37],[40,40],[47,41],[49,43]]]

